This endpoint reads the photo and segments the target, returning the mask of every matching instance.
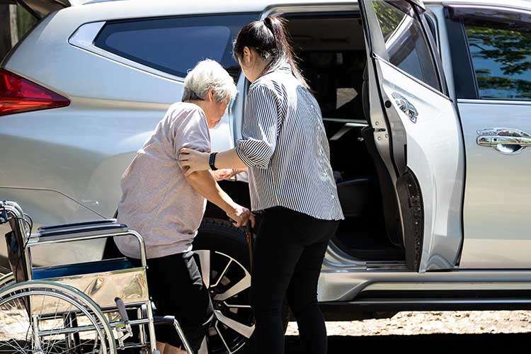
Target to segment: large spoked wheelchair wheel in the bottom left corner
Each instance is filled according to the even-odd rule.
[[[0,290],[0,353],[115,354],[101,309],[73,287],[28,281]]]

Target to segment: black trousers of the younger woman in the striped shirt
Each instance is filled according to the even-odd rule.
[[[317,281],[326,247],[338,224],[285,207],[265,210],[256,236],[251,280],[256,353],[284,353],[282,305],[286,297],[297,319],[303,353],[326,353]]]

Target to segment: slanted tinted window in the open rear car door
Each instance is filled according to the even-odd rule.
[[[373,0],[372,4],[389,62],[440,90],[428,40],[411,4],[404,0]]]

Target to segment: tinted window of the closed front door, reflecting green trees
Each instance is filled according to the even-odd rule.
[[[531,100],[531,32],[465,21],[480,98]]]

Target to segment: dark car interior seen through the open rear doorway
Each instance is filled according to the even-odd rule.
[[[285,18],[329,137],[346,217],[333,242],[363,261],[403,261],[398,204],[367,121],[367,57],[360,14],[292,13]]]

